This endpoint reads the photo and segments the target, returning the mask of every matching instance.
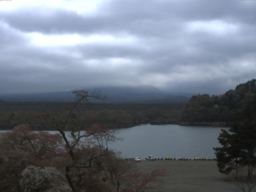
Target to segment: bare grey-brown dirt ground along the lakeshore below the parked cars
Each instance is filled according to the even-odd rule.
[[[161,191],[241,192],[232,182],[232,176],[218,172],[216,161],[142,160],[136,164],[140,172],[163,168],[168,171]]]

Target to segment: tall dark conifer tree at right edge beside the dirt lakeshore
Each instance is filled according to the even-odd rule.
[[[253,122],[235,123],[228,131],[222,130],[218,140],[222,147],[214,148],[219,171],[228,174],[238,166],[248,167],[252,176],[256,165],[256,126]]]

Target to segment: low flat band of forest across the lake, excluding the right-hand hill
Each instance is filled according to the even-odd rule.
[[[67,102],[5,102],[0,101],[0,129],[30,124],[33,129],[51,129],[43,114],[60,112],[64,116]],[[109,128],[131,127],[137,124],[170,124],[180,118],[181,104],[86,104],[78,105],[72,114],[81,127],[102,124]]]

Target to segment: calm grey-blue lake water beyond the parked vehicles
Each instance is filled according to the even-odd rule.
[[[143,159],[148,155],[213,158],[215,155],[212,148],[220,146],[218,135],[221,129],[207,126],[143,124],[117,129],[117,136],[124,140],[114,142],[110,148],[122,152],[123,157]]]

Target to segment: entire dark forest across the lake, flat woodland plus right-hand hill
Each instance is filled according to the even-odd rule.
[[[137,124],[198,124],[230,126],[232,122],[254,119],[256,116],[256,80],[236,86],[219,96],[198,94],[184,105],[170,103],[110,104],[81,103],[73,114],[80,125],[94,123],[110,128]],[[43,114],[65,111],[67,102],[7,102],[0,101],[0,128],[30,124],[34,129],[51,129]],[[64,114],[62,114],[64,115]]]

